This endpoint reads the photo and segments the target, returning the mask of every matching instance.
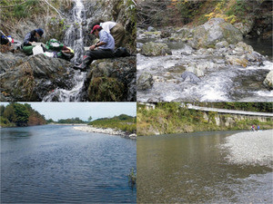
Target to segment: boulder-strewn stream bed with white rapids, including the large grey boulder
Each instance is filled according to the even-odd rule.
[[[272,101],[272,56],[243,41],[220,18],[195,28],[138,29],[137,101]]]

